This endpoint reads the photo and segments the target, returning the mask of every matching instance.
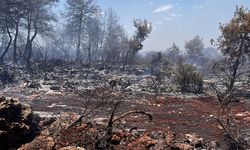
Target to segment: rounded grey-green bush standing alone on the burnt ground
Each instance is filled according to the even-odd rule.
[[[203,78],[190,64],[179,64],[175,80],[182,92],[201,93],[203,91]]]

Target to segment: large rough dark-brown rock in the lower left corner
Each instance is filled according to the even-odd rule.
[[[40,131],[36,120],[28,105],[0,97],[0,149],[30,142]]]

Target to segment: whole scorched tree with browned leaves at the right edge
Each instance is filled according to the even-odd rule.
[[[228,107],[249,89],[246,79],[250,55],[250,11],[237,6],[234,17],[228,23],[221,24],[220,30],[222,34],[218,38],[218,49],[224,59],[212,68],[218,78],[212,88],[222,105]]]

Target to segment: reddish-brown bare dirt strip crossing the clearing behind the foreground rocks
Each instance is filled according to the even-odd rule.
[[[12,94],[14,96],[12,96]],[[37,93],[32,93],[35,95]],[[4,96],[19,97],[23,102],[29,103],[35,111],[50,111],[50,112],[68,112],[75,111],[81,112],[81,107],[86,106],[86,99],[72,94],[65,94],[62,96],[45,96],[44,93],[38,93],[39,99],[26,99],[28,96],[24,93],[18,92],[6,92],[1,93]],[[32,96],[31,96],[32,97]],[[93,99],[93,100],[91,100]],[[91,103],[89,105],[94,106],[97,100],[95,97],[91,97]],[[97,98],[98,99],[98,98]],[[119,98],[113,98],[118,99]],[[125,100],[124,100],[125,99]],[[223,143],[223,130],[218,128],[218,122],[216,117],[218,114],[222,114],[219,108],[219,104],[214,97],[200,97],[200,98],[176,98],[176,97],[161,97],[152,95],[136,95],[122,99],[116,116],[120,114],[140,109],[149,112],[153,115],[153,121],[148,122],[147,118],[141,116],[131,116],[124,120],[126,121],[124,127],[137,127],[139,129],[147,129],[148,131],[168,131],[169,129],[176,133],[177,136],[183,136],[186,133],[197,133],[207,141],[218,141]],[[67,107],[53,107],[48,106],[53,103],[60,105],[67,105]],[[68,106],[71,106],[69,108]],[[104,108],[97,111],[97,116],[107,117],[113,107],[113,103],[105,105]],[[250,104],[238,103],[235,105],[234,114],[241,129],[249,128],[250,126]],[[116,123],[117,126],[121,124]]]

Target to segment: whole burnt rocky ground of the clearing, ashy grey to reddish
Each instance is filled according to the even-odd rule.
[[[56,69],[46,79],[43,74],[30,79],[20,71],[15,84],[0,91],[2,96],[19,99],[0,100],[0,138],[6,140],[0,146],[82,150],[98,149],[101,142],[105,149],[117,150],[228,148],[216,120],[223,112],[210,92],[180,93],[167,77],[159,80],[137,73]],[[130,114],[115,122],[112,134],[103,138],[117,102],[115,119],[130,111],[151,114],[153,119]],[[238,103],[233,112],[242,141],[249,143],[250,104]],[[80,116],[81,121],[68,128]]]

